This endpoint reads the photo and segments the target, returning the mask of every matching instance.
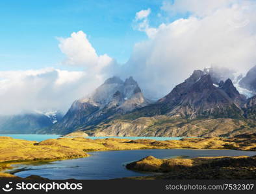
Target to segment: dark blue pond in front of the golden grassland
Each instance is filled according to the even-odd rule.
[[[91,152],[90,157],[73,160],[62,160],[40,165],[17,165],[23,169],[15,175],[27,177],[40,175],[50,179],[111,179],[121,177],[146,176],[149,173],[139,173],[125,168],[127,162],[140,160],[152,155],[157,158],[172,158],[187,156],[252,156],[255,151],[235,150],[196,150],[196,149],[147,149],[132,151],[98,151]]]

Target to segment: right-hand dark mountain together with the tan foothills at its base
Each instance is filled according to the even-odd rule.
[[[101,136],[232,136],[255,130],[256,96],[244,105],[231,79],[195,70],[155,103],[86,131]]]

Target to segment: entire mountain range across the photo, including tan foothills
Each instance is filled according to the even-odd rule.
[[[19,131],[39,134],[83,131],[90,136],[235,136],[256,129],[255,94],[256,66],[237,78],[221,68],[194,70],[156,102],[145,98],[133,77],[123,81],[114,76],[92,94],[75,100],[63,118],[27,114],[12,118],[18,122],[3,122],[6,118],[2,121],[0,117],[0,132],[21,124]]]

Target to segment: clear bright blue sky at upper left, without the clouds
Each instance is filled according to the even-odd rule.
[[[88,35],[98,54],[125,63],[134,43],[147,38],[132,28],[136,12],[151,8],[151,25],[158,25],[153,18],[161,4],[157,0],[0,1],[0,70],[59,67],[64,54],[56,38],[79,30]]]

